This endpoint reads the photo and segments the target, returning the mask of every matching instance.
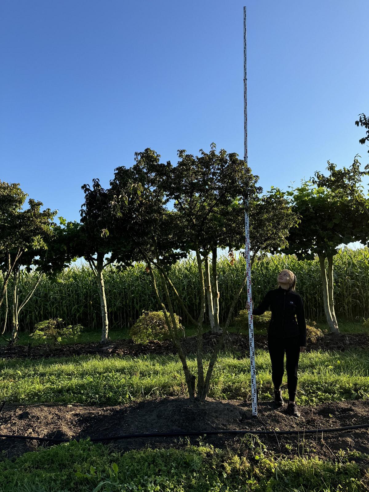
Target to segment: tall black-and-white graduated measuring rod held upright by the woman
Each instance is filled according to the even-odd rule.
[[[245,122],[245,174],[247,170],[247,77],[246,77],[246,7],[244,7],[244,122]],[[248,197],[246,197],[248,206]],[[248,336],[250,341],[250,369],[251,369],[251,399],[252,415],[257,416],[256,398],[256,373],[255,373],[255,348],[254,348],[254,323],[252,318],[252,295],[251,295],[251,267],[250,267],[250,229],[248,222],[248,212],[245,209],[245,258],[247,273],[247,301],[250,306],[248,309]]]

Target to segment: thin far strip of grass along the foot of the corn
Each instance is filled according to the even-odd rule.
[[[327,323],[324,320],[319,320],[317,322],[317,328],[320,328],[320,330],[323,331],[323,333],[328,333],[329,329],[327,326]],[[255,323],[256,326],[256,323]],[[338,320],[338,326],[339,326],[339,331],[340,333],[343,334],[357,334],[357,333],[367,333],[368,334],[368,328],[363,327],[363,322],[362,321],[349,321],[345,319],[339,319]],[[210,326],[204,325],[203,326],[203,331],[207,332],[210,330]],[[237,333],[237,328],[235,326],[230,326],[229,331],[231,333]],[[185,335],[186,337],[191,337],[192,335],[196,335],[197,330],[193,326],[187,326],[185,327]],[[241,329],[240,330],[241,334],[246,334],[248,333],[248,328]],[[266,332],[265,332],[266,334]],[[129,329],[128,328],[123,328],[123,329],[111,329],[109,330],[109,337],[112,341],[114,340],[121,340],[121,339],[126,339],[130,338],[129,337]],[[10,338],[9,333],[5,333],[5,338]],[[85,331],[82,332],[81,335],[76,338],[74,341],[62,341],[62,345],[67,345],[70,343],[87,343],[87,342],[99,342],[101,340],[101,331]],[[36,342],[32,340],[29,336],[28,332],[21,332],[19,334],[19,339],[18,339],[18,344],[19,345],[27,345],[28,343],[32,343],[33,345],[38,345],[39,342]],[[3,338],[0,337],[0,346],[1,345],[7,345],[7,341]]]

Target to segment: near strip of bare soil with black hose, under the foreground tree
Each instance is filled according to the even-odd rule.
[[[0,413],[0,433],[56,438],[107,437],[148,432],[185,432],[211,430],[301,430],[298,435],[258,435],[268,452],[292,456],[317,456],[339,460],[339,449],[369,453],[369,428],[343,432],[305,434],[307,429],[338,428],[369,424],[369,401],[323,403],[316,407],[300,407],[301,417],[287,415],[285,409],[275,409],[272,402],[259,402],[258,416],[253,417],[246,400],[214,400],[190,403],[184,398],[157,398],[119,406],[16,405],[6,404]],[[204,444],[228,447],[245,452],[249,458],[259,454],[257,439],[243,442],[243,435],[216,434],[203,437]],[[199,438],[189,437],[191,444]],[[185,437],[128,438],[103,441],[112,449],[128,451],[146,446],[183,447]],[[14,458],[39,446],[56,444],[28,439],[0,438],[0,451]],[[361,459],[362,461],[362,459]],[[362,461],[369,465],[368,457]]]

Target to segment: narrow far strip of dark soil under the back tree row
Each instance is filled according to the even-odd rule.
[[[211,353],[217,344],[220,335],[210,332],[203,334],[203,346],[205,353]],[[196,336],[186,337],[182,340],[184,352],[194,354],[196,352]],[[224,338],[224,346],[227,349],[237,352],[241,357],[249,354],[248,335],[228,333]],[[363,350],[369,347],[369,336],[367,334],[344,335],[326,334],[316,343],[308,343],[307,351],[311,350],[346,350],[355,348]],[[267,349],[267,337],[255,335],[255,348]],[[71,357],[73,355],[100,355],[102,357],[116,356],[137,356],[142,354],[176,354],[177,350],[171,340],[153,340],[146,345],[136,344],[132,339],[122,339],[109,341],[107,344],[99,342],[90,343],[70,343],[62,346],[52,345],[15,345],[1,346],[0,358],[47,358],[47,357]]]

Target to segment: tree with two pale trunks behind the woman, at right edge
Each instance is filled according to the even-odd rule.
[[[290,196],[292,210],[301,216],[298,227],[292,228],[287,240],[289,246],[282,251],[294,253],[299,259],[319,258],[323,304],[331,332],[338,332],[334,307],[333,257],[341,244],[360,241],[368,242],[369,201],[363,195],[361,178],[366,171],[360,171],[355,157],[350,168],[336,169],[328,161],[329,176],[315,173],[315,179],[302,182],[292,189]],[[326,270],[327,260],[327,270]]]

